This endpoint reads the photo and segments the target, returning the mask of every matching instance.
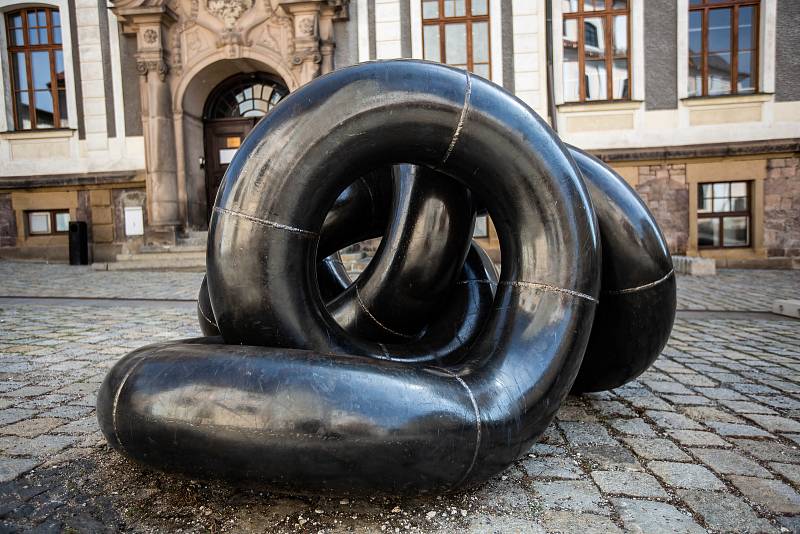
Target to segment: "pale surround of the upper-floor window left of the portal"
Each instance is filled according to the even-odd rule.
[[[3,87],[4,98],[0,99],[0,132],[7,132],[8,134],[17,134],[14,130],[14,118],[12,115],[13,104],[11,102],[10,91],[6,90],[10,87],[10,67],[8,64],[8,43],[6,42],[6,19],[5,14],[8,11],[14,11],[22,7],[31,7],[36,5],[55,7],[59,10],[61,15],[61,49],[64,53],[64,78],[67,87],[67,128],[73,130],[72,133],[77,134],[78,130],[78,106],[75,98],[75,74],[73,66],[73,52],[72,52],[72,20],[70,19],[70,0],[38,0],[36,2],[20,2],[19,0],[0,0],[0,50],[2,50],[2,59],[0,63],[0,84]],[[19,130],[17,135],[24,135],[29,137],[38,137],[42,134],[44,137],[50,137],[52,129],[45,129],[41,131]],[[63,131],[63,128],[61,129]],[[69,135],[72,135],[70,133]]]

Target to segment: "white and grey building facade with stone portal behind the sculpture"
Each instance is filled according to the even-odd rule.
[[[612,165],[676,254],[800,261],[795,0],[0,0],[0,257],[207,227],[242,138],[361,61],[441,61]],[[498,244],[490,221],[477,232]]]

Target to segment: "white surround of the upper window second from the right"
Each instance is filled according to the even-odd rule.
[[[604,100],[602,104],[625,104],[644,100],[644,0],[628,1],[630,2],[631,18],[631,78],[633,78],[630,82],[631,98],[630,100]],[[561,9],[561,2],[553,2],[553,98],[556,105],[594,105],[594,102],[567,102],[564,98],[563,27],[564,12]]]

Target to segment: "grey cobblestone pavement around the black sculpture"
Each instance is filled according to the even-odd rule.
[[[77,290],[60,269],[53,279]],[[104,274],[129,273],[86,274],[80,289],[124,296],[119,281],[93,282]],[[134,274],[148,295],[191,285],[175,273]],[[8,276],[0,280],[8,292]],[[700,281],[709,283],[691,282]],[[0,532],[800,531],[800,322],[694,317],[678,319],[639,380],[571,397],[540,443],[481,487],[320,498],[152,472],[105,445],[94,403],[107,369],[143,344],[198,335],[191,302],[0,299]]]

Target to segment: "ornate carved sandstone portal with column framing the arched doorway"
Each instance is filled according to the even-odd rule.
[[[184,106],[192,79],[219,62],[244,60],[248,66],[257,65],[278,75],[294,90],[333,70],[333,22],[347,19],[348,3],[113,1],[112,9],[123,32],[136,35],[147,166],[148,242],[172,243],[176,230],[193,222],[188,206],[193,186],[187,181],[196,180],[198,173],[188,161],[184,146],[196,140],[187,130],[192,128],[189,122],[202,120],[202,111]],[[232,69],[228,66],[225,70]],[[203,89],[205,97],[211,88]]]

